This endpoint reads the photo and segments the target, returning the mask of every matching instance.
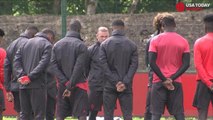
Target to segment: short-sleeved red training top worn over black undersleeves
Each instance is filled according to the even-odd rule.
[[[169,78],[175,74],[182,65],[183,53],[190,52],[188,41],[176,32],[164,32],[154,37],[149,46],[149,52],[156,52],[156,64],[162,74]],[[154,74],[153,83],[161,81]],[[176,82],[181,82],[178,77]]]

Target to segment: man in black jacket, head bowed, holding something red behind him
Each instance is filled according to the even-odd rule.
[[[44,120],[45,116],[45,70],[50,62],[55,33],[43,29],[17,51],[13,67],[18,78],[21,120]]]

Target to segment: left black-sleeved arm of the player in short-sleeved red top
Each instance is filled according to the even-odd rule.
[[[157,60],[157,53],[156,52],[149,52],[149,63],[152,70],[155,72],[155,74],[164,82],[167,80],[167,78],[163,75],[160,68],[156,64]]]

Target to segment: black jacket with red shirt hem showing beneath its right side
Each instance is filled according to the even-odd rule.
[[[77,83],[85,82],[87,60],[87,47],[80,34],[69,31],[53,47],[51,70],[60,84],[65,85],[69,81],[66,87],[71,90]]]

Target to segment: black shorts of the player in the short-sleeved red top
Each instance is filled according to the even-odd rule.
[[[151,92],[151,113],[163,114],[167,107],[171,115],[184,112],[183,109],[183,89],[182,84],[173,82],[175,90],[169,91],[162,82],[152,84]]]

